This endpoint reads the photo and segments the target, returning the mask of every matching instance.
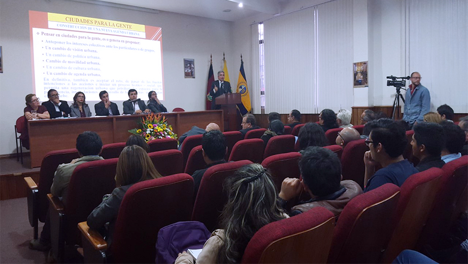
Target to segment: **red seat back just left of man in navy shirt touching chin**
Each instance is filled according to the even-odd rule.
[[[343,180],[353,180],[364,189],[364,153],[369,150],[365,140],[353,140],[346,144],[341,155]]]

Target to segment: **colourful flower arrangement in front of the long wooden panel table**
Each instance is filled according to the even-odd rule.
[[[142,117],[140,124],[142,128],[133,128],[128,130],[128,132],[142,136],[146,142],[153,139],[177,139],[177,134],[172,131],[172,126],[168,124],[168,120],[160,113]]]

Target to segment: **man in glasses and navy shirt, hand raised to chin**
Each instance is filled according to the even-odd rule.
[[[385,183],[402,186],[408,177],[418,173],[413,163],[403,158],[408,143],[403,126],[395,122],[381,122],[380,126],[372,129],[369,140],[365,143],[369,146],[369,151],[364,154],[364,182],[367,183],[364,192]],[[376,172],[377,164],[380,164],[382,169]]]

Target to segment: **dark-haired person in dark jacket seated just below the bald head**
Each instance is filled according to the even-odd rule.
[[[224,157],[227,152],[226,138],[223,133],[219,130],[211,130],[202,137],[202,155],[203,159],[207,163],[207,167],[202,170],[195,171],[192,175],[193,177],[193,187],[195,190],[193,195],[196,197],[198,192],[198,187],[202,183],[202,177],[208,168],[215,166],[217,164],[226,163]]]

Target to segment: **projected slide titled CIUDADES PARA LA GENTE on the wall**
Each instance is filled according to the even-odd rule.
[[[77,91],[99,101],[128,100],[154,90],[164,100],[160,27],[89,17],[29,11],[34,91],[46,101],[55,89],[60,100],[73,101]]]

